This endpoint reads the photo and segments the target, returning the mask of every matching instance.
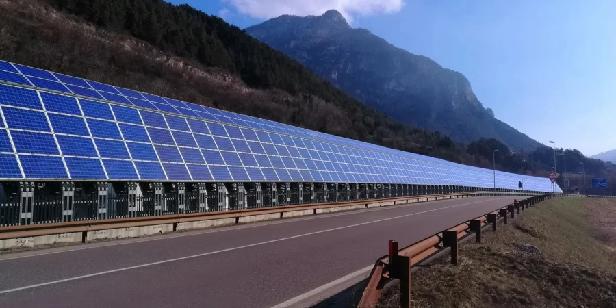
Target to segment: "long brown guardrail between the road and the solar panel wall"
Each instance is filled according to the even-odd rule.
[[[287,205],[279,207],[240,209],[227,211],[214,211],[206,213],[192,214],[170,214],[166,216],[144,216],[131,218],[115,218],[105,220],[80,220],[73,222],[56,222],[49,224],[27,224],[21,226],[0,227],[0,240],[40,237],[44,235],[59,235],[66,233],[81,233],[81,242],[86,242],[90,231],[101,231],[109,229],[135,228],[147,226],[160,226],[169,224],[172,226],[169,231],[177,231],[180,224],[188,222],[200,222],[203,220],[232,220],[232,223],[244,222],[242,218],[249,216],[257,217],[256,220],[270,218],[284,218],[292,216],[302,216],[309,214],[319,214],[327,209],[339,208],[359,209],[365,207],[378,207],[383,205],[397,205],[404,203],[414,203],[422,201],[435,201],[448,198],[464,198],[470,196],[489,196],[515,193],[495,193],[495,192],[469,192],[462,194],[434,194],[420,196],[405,196],[394,198],[370,199],[362,201],[350,201],[339,203],[316,203],[307,205]],[[285,215],[289,214],[289,215]],[[49,244],[49,243],[46,243]]]

